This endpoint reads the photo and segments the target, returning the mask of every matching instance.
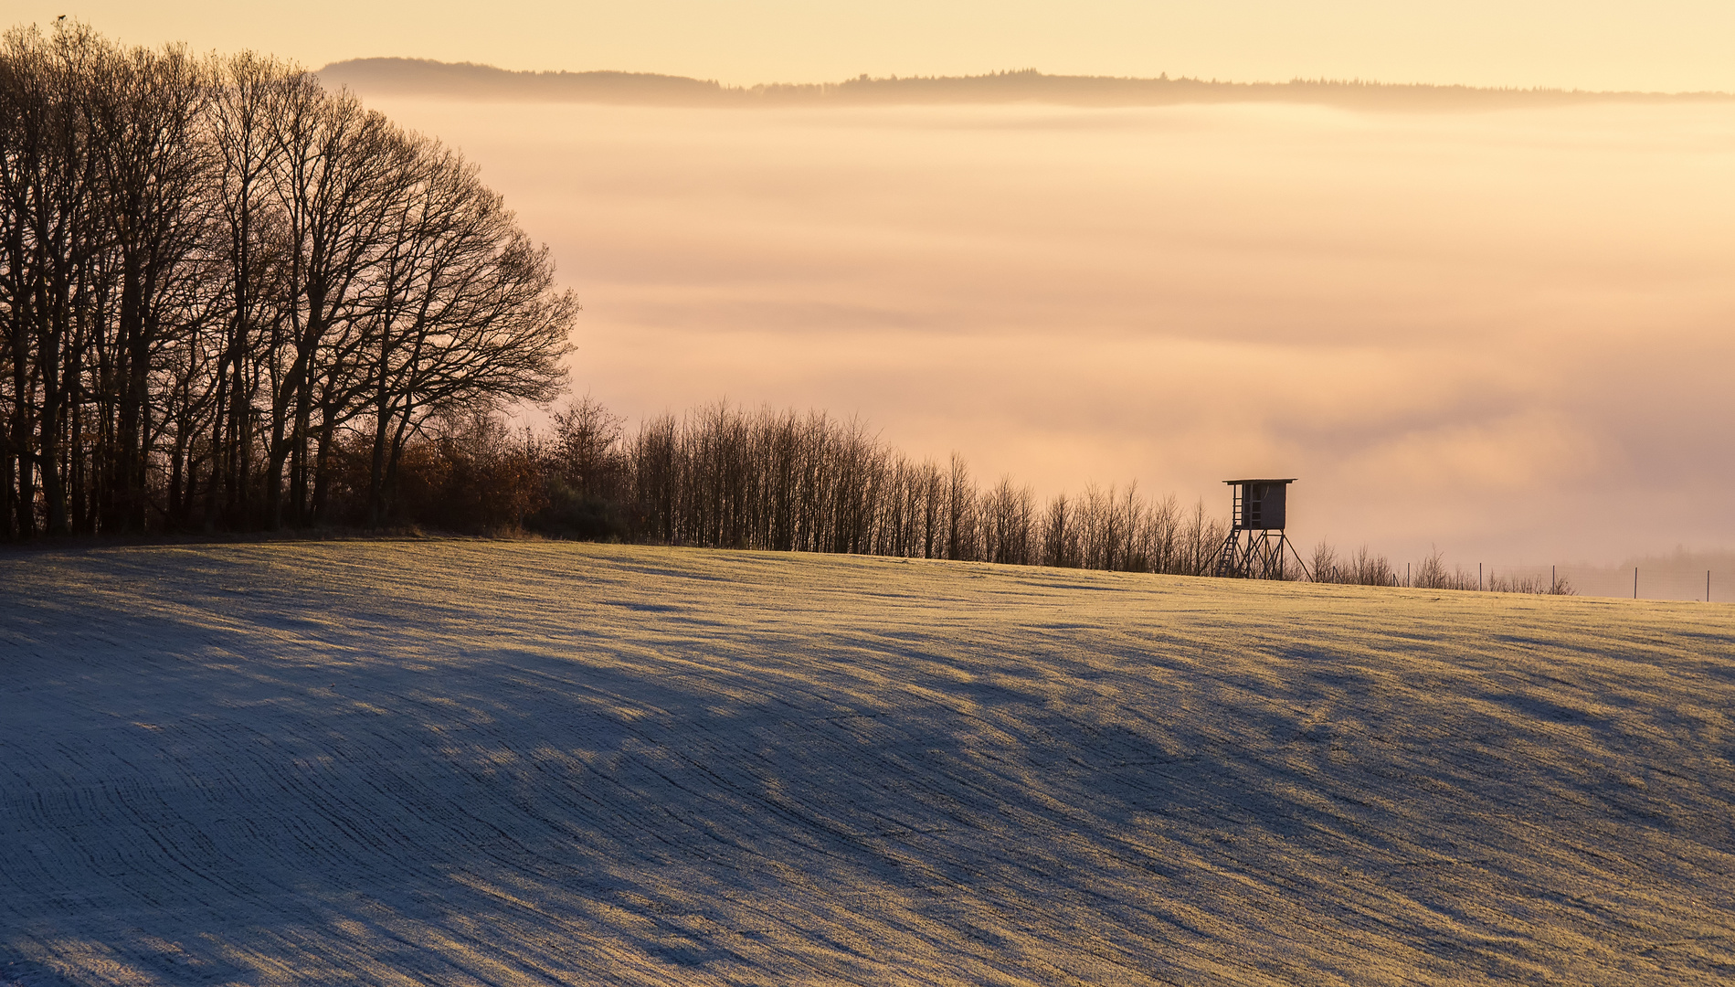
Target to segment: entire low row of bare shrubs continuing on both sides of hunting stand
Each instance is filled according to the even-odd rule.
[[[446,529],[524,529],[553,538],[956,559],[1013,565],[1216,574],[1228,524],[1138,486],[1038,500],[968,461],[913,460],[859,420],[824,411],[708,404],[628,434],[590,397],[543,432],[496,416],[411,448],[406,519]],[[1414,567],[1365,545],[1320,541],[1287,578],[1364,586],[1476,590],[1478,572],[1433,550]],[[1572,593],[1565,579],[1490,578],[1492,592]]]

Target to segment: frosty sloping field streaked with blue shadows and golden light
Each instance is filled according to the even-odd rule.
[[[0,984],[1726,984],[1735,607],[0,555]]]

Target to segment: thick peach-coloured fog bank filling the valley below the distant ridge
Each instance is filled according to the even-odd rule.
[[[987,480],[1548,562],[1735,541],[1735,108],[370,99],[460,146],[633,422],[861,415]]]

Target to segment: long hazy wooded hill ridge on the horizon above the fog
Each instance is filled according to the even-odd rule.
[[[828,83],[727,87],[710,80],[623,71],[508,71],[427,59],[350,59],[319,69],[326,85],[361,94],[446,99],[618,102],[658,106],[767,104],[992,104],[1173,106],[1188,102],[1305,102],[1357,109],[1466,111],[1581,102],[1735,102],[1723,92],[1579,92],[1475,88],[1378,82],[1293,80],[1282,83],[1197,78],[1112,78],[1043,75],[1036,69],[975,76],[859,76]]]

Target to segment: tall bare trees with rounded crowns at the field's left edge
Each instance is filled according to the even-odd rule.
[[[474,165],[300,68],[0,36],[0,538],[383,524],[574,312]]]

